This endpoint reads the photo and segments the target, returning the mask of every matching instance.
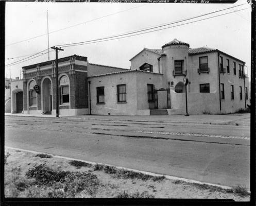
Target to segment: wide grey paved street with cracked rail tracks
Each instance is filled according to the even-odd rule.
[[[5,117],[5,145],[249,187],[250,116]]]

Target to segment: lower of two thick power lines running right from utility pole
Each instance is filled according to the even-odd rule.
[[[219,15],[216,15],[216,16],[211,16],[209,18],[205,18],[205,19],[201,19],[201,20],[196,20],[196,21],[193,21],[193,22],[188,22],[188,23],[179,24],[179,25],[175,25],[175,26],[170,26],[170,27],[166,27],[166,28],[161,28],[161,29],[157,29],[157,30],[146,31],[146,32],[143,32],[143,33],[136,33],[136,34],[125,36],[125,37],[118,37],[118,38],[114,38],[114,39],[107,39],[107,40],[101,40],[101,41],[96,41],[96,42],[87,42],[87,43],[81,43],[81,44],[76,44],[76,45],[67,45],[67,46],[62,46],[62,48],[64,48],[64,47],[71,47],[71,46],[79,46],[79,45],[84,45],[84,44],[93,44],[93,43],[105,42],[105,41],[112,41],[112,40],[116,40],[116,39],[123,39],[123,38],[127,38],[127,37],[143,35],[144,33],[150,33],[150,32],[160,31],[160,30],[164,30],[164,29],[168,29],[168,28],[174,28],[174,27],[178,27],[178,26],[182,26],[182,25],[186,25],[186,24],[191,24],[191,23],[195,23],[195,22],[199,22],[199,21],[203,21],[203,20],[207,20],[207,19],[212,19],[212,18],[215,18],[217,16],[227,15],[227,14],[230,14],[230,13],[234,13],[234,12],[242,11],[242,10],[246,10],[246,9],[250,9],[250,8],[245,8],[245,9],[240,9],[240,10],[236,10],[236,11],[231,11],[231,12],[228,12],[228,13],[219,14]]]

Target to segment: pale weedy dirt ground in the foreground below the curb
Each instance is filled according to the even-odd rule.
[[[21,185],[22,181],[29,182],[30,179],[25,176],[28,169],[45,163],[52,169],[64,171],[80,171],[90,172],[97,176],[99,186],[94,194],[79,192],[75,197],[87,198],[113,198],[122,197],[120,194],[126,194],[132,197],[132,194],[144,194],[144,197],[151,198],[200,198],[200,199],[233,199],[235,201],[249,201],[250,196],[243,196],[235,192],[227,192],[218,190],[218,188],[204,187],[203,185],[195,185],[182,181],[169,179],[146,181],[138,178],[117,178],[114,174],[107,174],[104,170],[94,170],[92,166],[82,166],[76,168],[69,163],[69,160],[57,157],[40,158],[36,157],[35,153],[28,153],[19,150],[6,149],[5,153],[9,153],[7,163],[5,164],[5,197],[27,197],[28,190],[38,188],[38,185],[30,184],[31,186],[19,190],[17,183]],[[20,168],[20,169],[19,169]],[[19,172],[15,173],[15,171]],[[15,174],[14,174],[15,173]],[[18,181],[19,180],[19,181]],[[31,180],[32,181],[32,180]],[[15,188],[16,187],[16,188]],[[146,195],[145,195],[146,194]],[[41,196],[42,195],[42,196]],[[143,196],[143,195],[142,195]],[[142,197],[140,196],[140,197]],[[29,196],[31,197],[31,196]],[[35,197],[46,197],[45,194],[38,193]]]

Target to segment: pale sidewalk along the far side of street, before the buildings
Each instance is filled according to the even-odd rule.
[[[5,113],[6,116],[30,116],[30,117],[50,117],[57,118],[51,114],[11,114]],[[84,119],[84,120],[105,120],[105,121],[128,121],[128,122],[170,122],[170,123],[188,123],[188,124],[221,124],[221,125],[245,125],[250,126],[250,113],[243,114],[191,114],[184,116],[176,115],[151,115],[151,116],[115,116],[115,115],[77,115],[77,116],[60,116],[62,119]]]

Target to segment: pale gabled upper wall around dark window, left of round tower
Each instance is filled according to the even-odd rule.
[[[158,70],[158,60],[157,58],[161,57],[156,53],[149,52],[147,50],[143,50],[137,56],[132,58],[131,61],[131,70],[140,70],[140,66],[144,63],[151,64],[153,66],[153,72],[159,73]],[[160,73],[162,73],[162,68],[160,66]]]

